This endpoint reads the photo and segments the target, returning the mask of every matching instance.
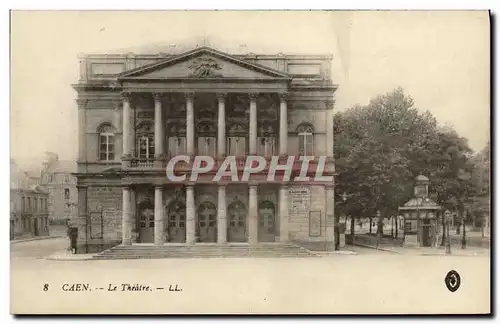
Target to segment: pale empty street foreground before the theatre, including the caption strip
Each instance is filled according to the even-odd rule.
[[[11,245],[11,312],[450,314],[490,310],[488,255],[398,255],[358,247],[357,255],[304,259],[44,259],[66,247],[65,239]],[[450,270],[461,276],[456,292],[444,283]],[[142,285],[137,286],[142,291],[121,291],[127,287],[122,284]],[[149,290],[143,289],[146,286]],[[87,290],[65,291],[82,287]]]

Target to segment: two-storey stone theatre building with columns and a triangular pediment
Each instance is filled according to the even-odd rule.
[[[166,176],[178,155],[216,165],[234,156],[240,170],[248,155],[325,156],[323,175],[333,175],[331,60],[206,46],[82,56],[73,85],[79,244],[331,241],[333,181]],[[175,165],[176,174],[190,170]]]

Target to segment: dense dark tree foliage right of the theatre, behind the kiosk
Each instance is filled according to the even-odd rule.
[[[411,198],[419,174],[430,178],[432,197],[445,208],[459,208],[476,195],[467,140],[439,126],[428,111],[419,112],[401,88],[337,113],[334,135],[340,212],[393,215]]]

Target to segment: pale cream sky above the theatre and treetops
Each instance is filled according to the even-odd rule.
[[[481,11],[30,11],[11,19],[11,157],[74,160],[81,53],[208,37],[254,53],[332,54],[336,110],[398,86],[479,151],[490,137],[490,48]],[[155,48],[149,47],[149,48]]]

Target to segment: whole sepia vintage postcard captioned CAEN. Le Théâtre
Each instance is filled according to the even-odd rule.
[[[12,11],[12,314],[490,314],[487,11]]]

